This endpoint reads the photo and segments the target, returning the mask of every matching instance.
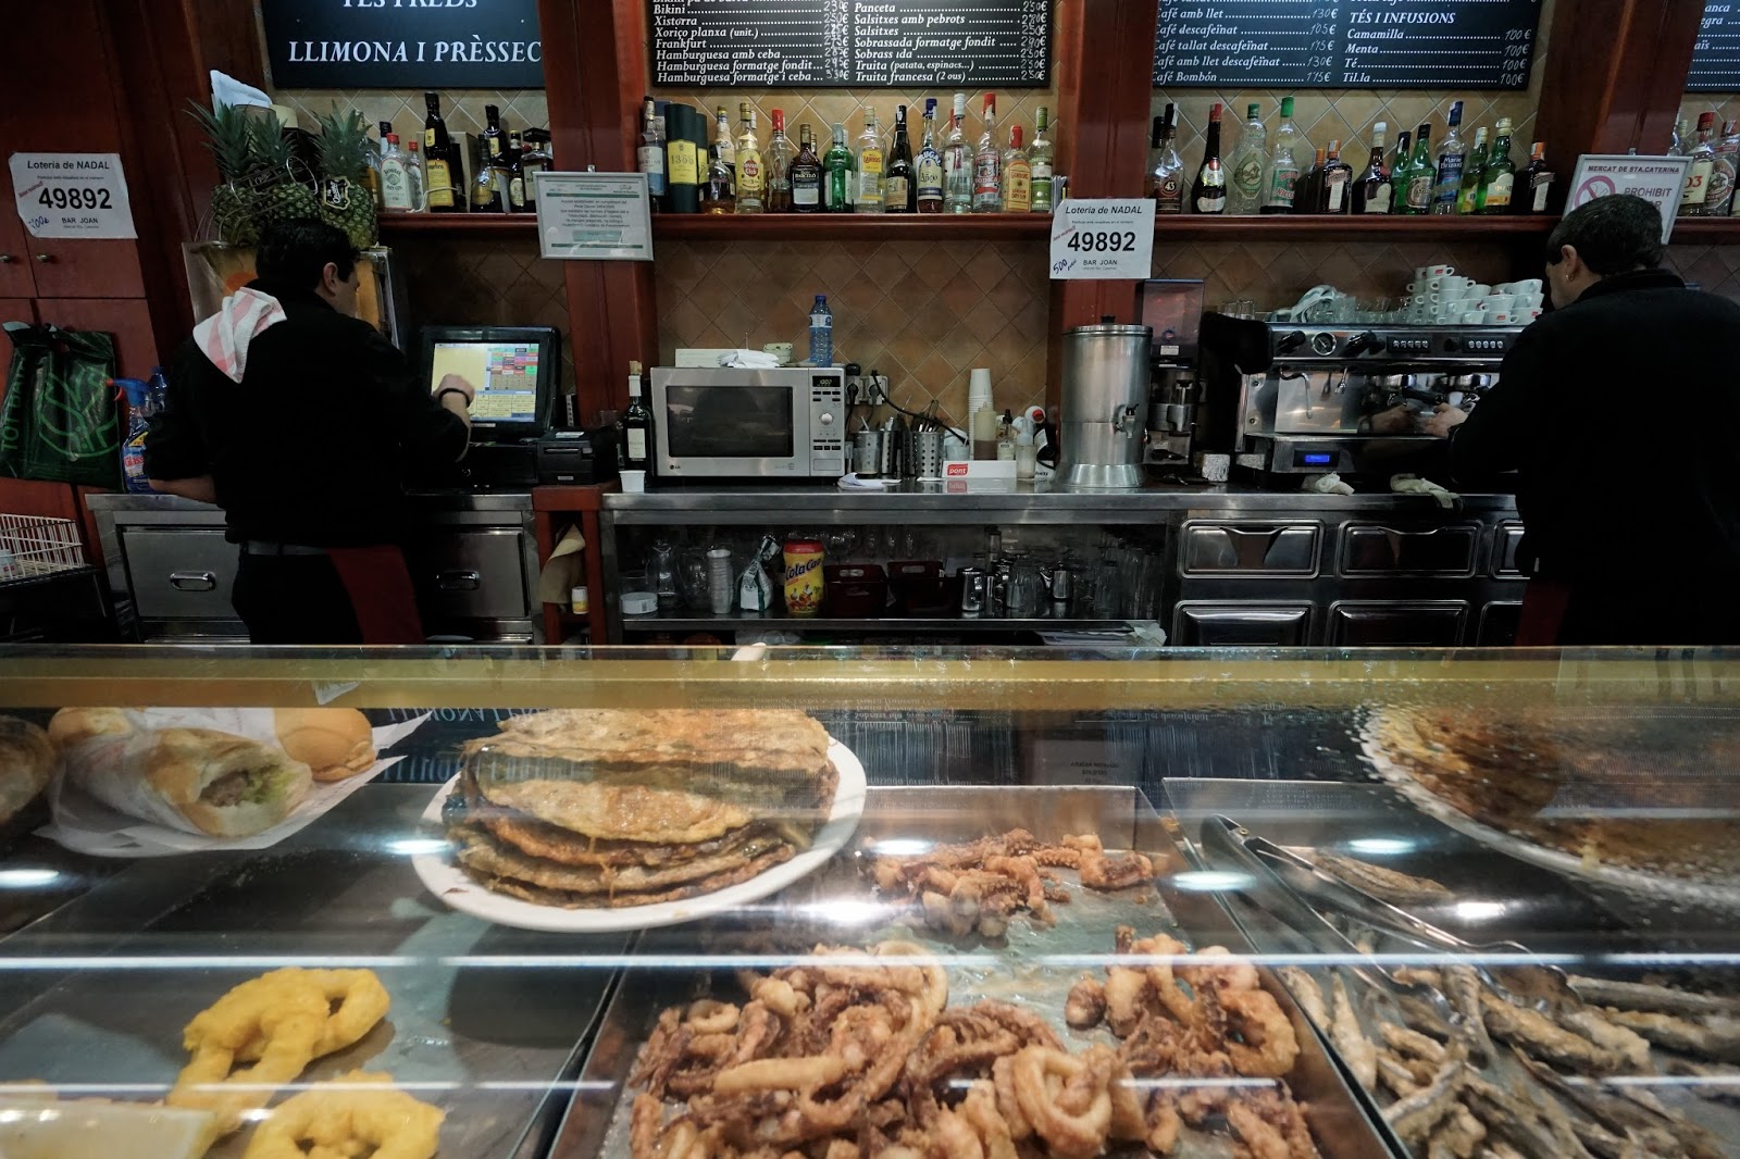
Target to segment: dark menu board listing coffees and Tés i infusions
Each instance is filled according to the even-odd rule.
[[[1538,24],[1540,0],[1161,0],[1154,84],[1526,89]]]

